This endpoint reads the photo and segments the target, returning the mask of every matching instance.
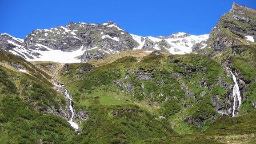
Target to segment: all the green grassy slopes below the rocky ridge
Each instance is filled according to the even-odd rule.
[[[215,58],[216,61],[224,60],[224,57]],[[2,58],[1,64],[3,61],[8,64],[8,68],[0,67],[0,140],[4,143],[15,143],[17,140],[35,143],[40,138],[55,143],[128,143],[142,142],[141,140],[153,143],[227,143],[255,140],[253,108],[249,108],[250,111],[246,108],[245,111],[251,113],[240,114],[237,118],[218,116],[214,110],[210,97],[218,94],[221,98],[225,93],[217,85],[218,77],[228,84],[232,84],[232,80],[226,76],[220,64],[208,57],[193,54],[150,54],[138,61],[136,57],[124,56],[110,64],[104,63],[106,65],[84,72],[80,71],[84,64],[68,65],[69,71],[62,75],[61,81],[70,82],[65,86],[72,93],[76,110],[83,109],[90,114],[90,118],[80,125],[80,135],[74,133],[66,120],[43,114],[28,104],[27,96],[34,103],[42,104],[42,107],[58,107],[64,101],[52,89],[47,74],[37,69],[35,72],[30,71],[29,68],[33,65],[28,63],[27,66],[27,62],[16,57],[14,59],[16,60],[12,62],[21,63],[30,75],[8,69],[8,58]],[[174,63],[174,60],[179,62]],[[59,72],[63,72],[62,70]],[[172,73],[179,74],[179,78],[173,77]],[[253,78],[252,73],[246,73],[250,80]],[[37,79],[36,76],[39,75],[45,78]],[[138,75],[150,78],[140,80]],[[201,85],[202,78],[210,86],[209,89]],[[116,80],[120,80],[123,87],[117,85]],[[186,98],[184,90],[180,88],[181,83],[193,90],[194,95]],[[124,88],[129,84],[132,85],[132,91]],[[255,89],[253,86],[255,84],[250,84],[252,91],[247,93],[249,100]],[[200,96],[203,91],[206,94]],[[183,104],[188,106],[184,107]],[[241,107],[243,108],[245,106]],[[212,120],[213,115],[219,118]],[[166,119],[161,120],[159,116]],[[203,123],[200,127],[185,123],[184,119],[187,117],[203,120]],[[249,118],[248,122],[246,118]]]

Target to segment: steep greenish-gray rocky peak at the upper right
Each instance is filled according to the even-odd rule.
[[[210,32],[204,54],[214,56],[234,44],[256,43],[256,10],[233,3]]]

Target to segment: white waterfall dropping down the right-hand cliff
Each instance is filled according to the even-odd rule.
[[[234,98],[234,102],[233,102],[233,112],[232,112],[232,117],[236,116],[237,115],[237,112],[238,112],[238,108],[240,107],[241,105],[241,101],[242,101],[242,98],[240,96],[240,90],[239,90],[239,86],[236,82],[236,76],[233,74],[233,72],[231,71],[230,68],[229,69],[229,72],[231,73],[232,75],[232,78],[235,82],[235,85],[233,87],[233,98]]]

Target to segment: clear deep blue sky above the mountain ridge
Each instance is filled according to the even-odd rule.
[[[0,0],[0,33],[24,38],[33,29],[69,22],[113,21],[140,36],[200,35],[209,33],[233,2],[256,8],[256,0]]]

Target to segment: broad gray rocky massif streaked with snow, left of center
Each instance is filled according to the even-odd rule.
[[[138,45],[131,35],[113,22],[107,24],[69,23],[66,27],[34,30],[22,44],[28,49],[42,51],[47,51],[47,48],[64,52],[82,49],[84,50],[84,54],[80,54],[82,62],[101,59],[107,54],[129,50]]]

